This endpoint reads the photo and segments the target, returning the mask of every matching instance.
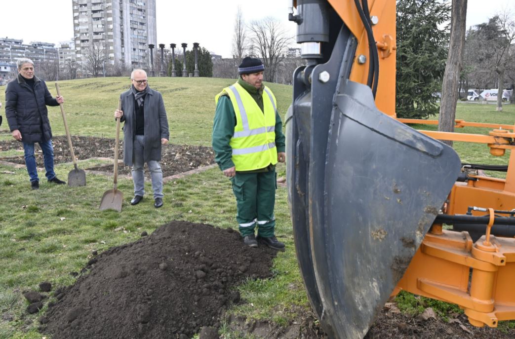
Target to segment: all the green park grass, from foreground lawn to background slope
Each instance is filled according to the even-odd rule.
[[[214,96],[230,79],[150,78],[149,84],[163,94],[170,123],[170,141],[174,144],[211,145],[211,129],[215,109]],[[113,112],[119,94],[130,84],[127,78],[81,79],[60,82],[65,98],[68,126],[74,135],[114,138]],[[48,83],[55,95],[54,83]],[[278,99],[284,117],[291,101],[291,86],[269,84]],[[5,102],[5,87],[0,87],[0,100]],[[5,112],[2,112],[5,117]],[[64,127],[58,107],[49,108],[55,135],[63,135]],[[505,112],[495,112],[494,105],[458,104],[457,117],[468,121],[513,123],[515,105],[506,105]],[[460,132],[484,133],[485,129],[466,128]],[[7,121],[0,140],[10,139]],[[488,155],[485,145],[455,143],[464,162],[507,164],[508,157]],[[9,152],[0,152],[0,157]],[[88,167],[84,160],[80,168]],[[71,165],[59,165],[56,172],[66,177]],[[284,172],[280,165],[279,172]],[[40,173],[43,176],[43,173]],[[43,178],[44,179],[44,178]],[[24,168],[0,165],[0,311],[10,315],[0,319],[0,338],[41,338],[37,331],[39,314],[25,312],[27,302],[21,292],[38,289],[44,280],[54,286],[72,284],[69,273],[80,271],[91,252],[139,239],[142,231],[151,233],[171,220],[209,223],[220,227],[236,227],[236,207],[230,184],[218,169],[191,175],[165,184],[165,204],[153,208],[147,199],[137,207],[129,206],[132,182],[118,180],[124,193],[121,213],[99,211],[102,194],[112,188],[112,179],[88,174],[88,185],[71,188],[41,181],[38,191],[31,191]],[[151,191],[147,183],[147,191]],[[233,310],[255,319],[271,319],[287,324],[296,310],[309,308],[297,266],[287,191],[280,187],[276,198],[277,235],[286,243],[286,252],[274,261],[273,278],[249,281],[239,287],[248,303]],[[222,327],[222,331],[224,327]],[[228,337],[230,335],[228,334]]]

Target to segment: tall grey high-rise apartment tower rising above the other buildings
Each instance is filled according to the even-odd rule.
[[[77,61],[86,63],[92,48],[108,62],[129,67],[145,61],[148,44],[156,44],[156,0],[72,0]]]

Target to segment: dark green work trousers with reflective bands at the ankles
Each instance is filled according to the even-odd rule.
[[[274,236],[276,218],[273,208],[276,203],[276,170],[267,172],[236,172],[231,178],[232,190],[236,197],[239,233],[242,237],[254,234],[258,227],[261,237]]]

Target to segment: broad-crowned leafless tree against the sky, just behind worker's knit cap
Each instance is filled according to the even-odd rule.
[[[276,80],[277,66],[284,58],[291,37],[288,37],[279,20],[273,17],[251,22],[249,29],[252,32],[252,46],[265,65],[265,81],[273,82]]]

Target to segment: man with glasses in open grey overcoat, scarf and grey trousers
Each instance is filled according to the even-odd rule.
[[[161,171],[161,145],[169,139],[168,120],[161,93],[147,84],[147,73],[134,69],[131,88],[122,93],[122,110],[114,112],[124,124],[124,163],[132,166],[134,198],[131,205],[140,203],[145,194],[143,165],[147,163],[152,180],[154,206],[163,206],[163,172]],[[124,114],[125,113],[125,114]]]

